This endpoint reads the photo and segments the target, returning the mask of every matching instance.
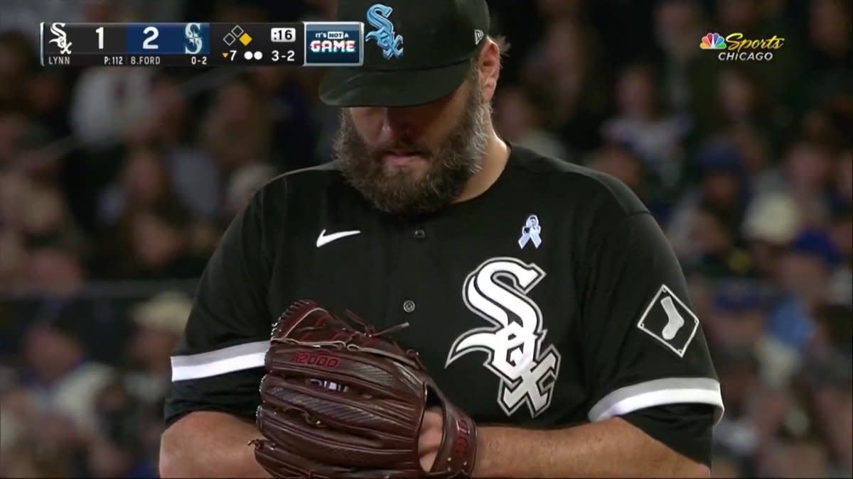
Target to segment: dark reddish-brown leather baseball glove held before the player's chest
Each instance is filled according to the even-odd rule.
[[[252,441],[258,463],[276,477],[470,476],[475,424],[415,351],[387,338],[400,326],[376,332],[347,320],[299,301],[277,321],[257,413],[264,439]],[[432,406],[444,413],[444,436],[425,471],[418,439]]]

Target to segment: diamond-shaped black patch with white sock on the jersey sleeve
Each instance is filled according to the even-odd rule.
[[[649,303],[637,322],[637,327],[664,343],[679,357],[684,357],[696,330],[699,329],[699,318],[664,285],[660,286],[658,293]]]

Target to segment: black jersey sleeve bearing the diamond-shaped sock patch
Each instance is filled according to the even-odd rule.
[[[678,410],[673,406],[692,406],[708,412],[710,437],[723,413],[720,384],[682,268],[658,223],[635,211],[591,236],[581,278],[589,420],[626,418],[681,451],[697,435],[667,426],[680,419],[665,416]],[[707,441],[708,455],[710,447]]]

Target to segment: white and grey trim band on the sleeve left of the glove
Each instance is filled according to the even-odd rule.
[[[210,378],[229,372],[264,367],[269,341],[237,344],[198,355],[172,356],[171,380]]]

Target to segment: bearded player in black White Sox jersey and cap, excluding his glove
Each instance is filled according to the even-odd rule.
[[[485,0],[341,0],[339,20],[364,23],[366,50],[322,83],[341,108],[334,162],[269,182],[223,235],[172,357],[162,475],[322,476],[324,447],[347,440],[311,458],[299,438],[273,442],[274,465],[253,442],[270,439],[262,395],[288,401],[261,384],[270,332],[310,299],[417,351],[476,424],[454,474],[708,476],[723,405],[676,257],[622,183],[496,135],[502,52]],[[416,431],[423,471],[459,436],[439,409]],[[345,421],[304,416],[324,433]],[[334,456],[351,476],[347,461],[382,457],[368,429],[339,433],[363,434]],[[388,454],[362,476],[406,476]]]

